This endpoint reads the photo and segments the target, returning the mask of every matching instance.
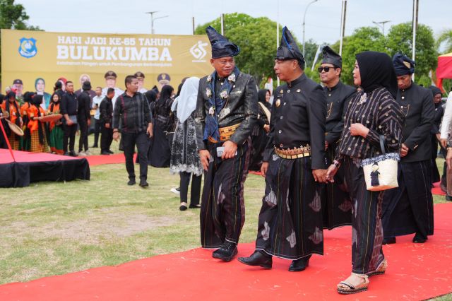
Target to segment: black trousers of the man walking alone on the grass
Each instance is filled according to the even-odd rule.
[[[133,167],[133,152],[135,146],[138,149],[140,158],[140,180],[148,179],[148,145],[149,138],[143,131],[141,133],[122,133],[122,144],[124,148],[124,157],[126,157],[126,170],[129,179],[135,179],[135,167]]]

